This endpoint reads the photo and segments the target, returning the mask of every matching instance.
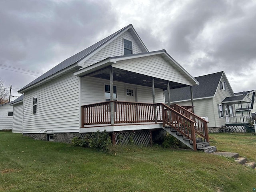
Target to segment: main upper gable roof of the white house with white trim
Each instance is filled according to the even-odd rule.
[[[120,34],[122,34],[123,32],[125,32],[129,29],[132,29],[135,36],[138,38],[138,43],[139,43],[140,48],[144,48],[144,51],[148,52],[148,49],[146,48],[146,46],[144,45],[144,43],[142,42],[142,40],[138,36],[137,32],[134,30],[132,24],[129,24],[128,26],[118,30],[117,32],[115,32],[115,33],[111,34],[110,36],[100,40],[99,42],[93,44],[92,46],[90,46],[90,47],[80,51],[79,53],[74,54],[70,58],[67,58],[66,60],[62,61],[60,64],[56,65],[54,68],[48,70],[46,73],[42,74],[40,77],[36,78],[34,81],[30,82],[29,84],[27,84],[26,86],[24,86],[23,88],[18,90],[18,93],[23,93],[22,91],[25,90],[26,88],[28,88],[29,86],[32,86],[32,85],[34,85],[34,84],[52,76],[53,74],[56,74],[57,72],[60,72],[60,71],[66,69],[66,68],[68,68],[72,65],[77,66],[77,63],[79,61],[83,60],[84,58],[86,58],[87,56],[89,56],[90,54],[95,52],[96,50],[102,48],[108,42],[114,40]]]

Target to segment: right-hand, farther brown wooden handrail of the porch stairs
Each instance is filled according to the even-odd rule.
[[[202,126],[204,128],[204,134],[200,133],[198,130],[195,129],[195,133],[202,136],[207,142],[209,141],[209,135],[208,135],[208,126],[207,123],[208,121],[206,121],[205,119],[201,118],[200,116],[190,112],[189,110],[187,110],[186,108],[183,108],[182,106],[178,105],[178,104],[172,104],[171,107],[175,107],[180,108],[180,110],[183,110],[184,112],[186,112],[186,114],[190,115],[190,119],[193,118],[193,120],[195,121],[196,119],[198,119],[198,125],[199,125],[199,120],[202,122]],[[177,110],[176,110],[177,111]],[[188,117],[189,118],[189,117]]]

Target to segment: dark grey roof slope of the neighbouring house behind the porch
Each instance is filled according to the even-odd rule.
[[[192,86],[193,98],[207,98],[213,97],[216,89],[218,88],[220,79],[224,71],[212,73],[204,76],[195,77],[199,82],[199,85]],[[165,102],[168,102],[168,92],[165,91]],[[190,87],[182,87],[177,89],[172,89],[170,91],[171,102],[190,100]]]

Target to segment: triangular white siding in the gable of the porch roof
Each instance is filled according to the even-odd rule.
[[[116,64],[112,64],[112,66],[155,78],[191,85],[184,75],[160,55],[118,61]]]

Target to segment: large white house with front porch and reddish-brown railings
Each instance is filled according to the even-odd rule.
[[[106,130],[113,144],[124,135],[148,144],[152,131],[174,128],[196,150],[196,133],[208,141],[207,122],[198,117],[202,126],[196,126],[197,117],[183,115],[188,110],[163,103],[164,90],[197,84],[165,50],[149,52],[129,24],[18,91],[24,94],[22,134],[70,141]]]

